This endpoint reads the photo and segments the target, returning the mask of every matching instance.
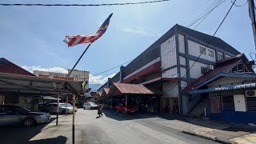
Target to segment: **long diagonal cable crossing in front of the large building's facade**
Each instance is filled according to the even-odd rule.
[[[234,2],[236,2],[236,1],[237,1],[237,0],[234,0]],[[227,15],[230,13],[230,10],[231,10],[232,7],[234,6],[234,2],[233,2],[233,4],[232,4],[232,6],[230,6],[230,9],[229,9],[228,12],[226,13],[225,17],[222,19],[222,22],[221,22],[220,25],[218,26],[217,30],[215,30],[214,35],[218,32],[219,28],[222,26],[222,23],[225,21]],[[207,47],[207,46],[210,44],[210,42],[213,40],[214,35],[211,36],[210,41],[207,42],[207,44],[206,44],[205,48],[203,49],[202,53],[206,50],[206,47]],[[190,72],[191,68],[194,66],[194,64],[195,64],[195,63],[198,61],[198,59],[201,57],[202,53],[199,54],[198,58],[194,61],[193,65],[190,66],[190,69],[188,70],[188,72]],[[186,74],[187,74],[187,72],[186,72]],[[183,78],[185,78],[186,74],[184,74],[184,76],[183,76],[170,90],[172,90],[175,86],[177,86],[178,83],[181,82]],[[167,94],[170,90],[168,90],[167,92],[164,92],[164,93]]]

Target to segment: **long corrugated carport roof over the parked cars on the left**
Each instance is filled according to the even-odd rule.
[[[0,93],[30,95],[83,95],[80,82],[38,78],[21,74],[0,73]],[[64,86],[63,86],[64,83]]]

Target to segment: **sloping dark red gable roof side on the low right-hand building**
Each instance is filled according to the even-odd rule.
[[[235,56],[234,58],[229,58],[226,61],[218,63],[214,70],[210,70],[208,73],[203,74],[201,77],[199,77],[190,86],[186,86],[186,88],[182,90],[182,93],[189,93],[190,90],[194,89],[194,87],[202,84],[202,82],[206,82],[210,78],[213,78],[220,73],[229,73],[230,70],[234,68],[234,66],[238,65],[238,63],[242,61],[242,56],[244,56],[244,54],[238,54],[238,56]]]

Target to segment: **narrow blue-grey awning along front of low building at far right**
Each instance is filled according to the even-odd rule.
[[[206,89],[206,90],[194,90],[194,91],[190,91],[189,94],[202,94],[202,93],[210,93],[214,91],[241,90],[241,89],[252,89],[252,88],[256,88],[256,83],[247,83],[247,84],[235,85],[235,86],[223,86],[223,87],[216,87],[213,89]]]

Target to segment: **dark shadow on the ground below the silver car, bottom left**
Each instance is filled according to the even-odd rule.
[[[55,118],[51,118],[50,122],[53,122]],[[41,143],[66,143],[67,138],[58,136],[57,138],[47,138],[35,141],[30,141],[37,134],[43,130],[49,129],[54,126],[50,126],[44,129],[50,122],[45,124],[25,127],[25,126],[1,126],[0,127],[0,143],[1,144],[17,144],[17,143],[28,143],[28,144],[41,144]]]

